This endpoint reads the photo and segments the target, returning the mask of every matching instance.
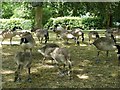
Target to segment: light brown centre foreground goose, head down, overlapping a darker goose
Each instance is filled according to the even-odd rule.
[[[67,74],[71,78],[72,62],[68,50],[66,48],[57,47],[53,52],[50,53],[50,55],[54,59],[59,73],[62,75]],[[65,68],[66,66],[67,69]]]

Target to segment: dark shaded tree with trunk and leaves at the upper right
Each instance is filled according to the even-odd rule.
[[[105,28],[112,27],[114,14],[118,9],[119,2],[94,2],[86,3],[87,11],[95,16],[103,18]],[[120,11],[119,11],[120,12]]]

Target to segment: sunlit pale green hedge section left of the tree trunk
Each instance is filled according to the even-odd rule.
[[[23,29],[31,28],[31,20],[25,19],[0,19],[0,29],[12,29],[15,24]]]

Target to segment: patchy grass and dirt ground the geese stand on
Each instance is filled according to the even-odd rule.
[[[19,43],[19,38],[13,41]],[[116,52],[110,52],[106,57],[105,52],[100,53],[100,62],[96,62],[97,49],[93,45],[88,45],[88,37],[85,35],[85,42],[80,42],[80,46],[70,41],[69,45],[63,44],[61,40],[55,40],[55,34],[50,33],[49,43],[57,43],[62,47],[67,47],[73,62],[72,79],[67,76],[60,77],[50,60],[42,62],[42,55],[37,52],[43,44],[39,44],[33,49],[33,63],[31,68],[32,82],[13,82],[16,64],[14,54],[21,51],[19,45],[2,45],[2,87],[3,88],[120,88],[120,67]],[[120,41],[120,40],[118,40]],[[22,79],[26,78],[26,70],[23,70]]]

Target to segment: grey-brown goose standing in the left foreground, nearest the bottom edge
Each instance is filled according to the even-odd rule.
[[[20,74],[22,73],[21,71],[24,67],[28,69],[27,81],[31,82],[31,77],[30,77],[30,68],[31,68],[31,63],[32,63],[31,53],[30,52],[17,52],[15,54],[14,59],[17,64],[14,82],[21,81]]]

